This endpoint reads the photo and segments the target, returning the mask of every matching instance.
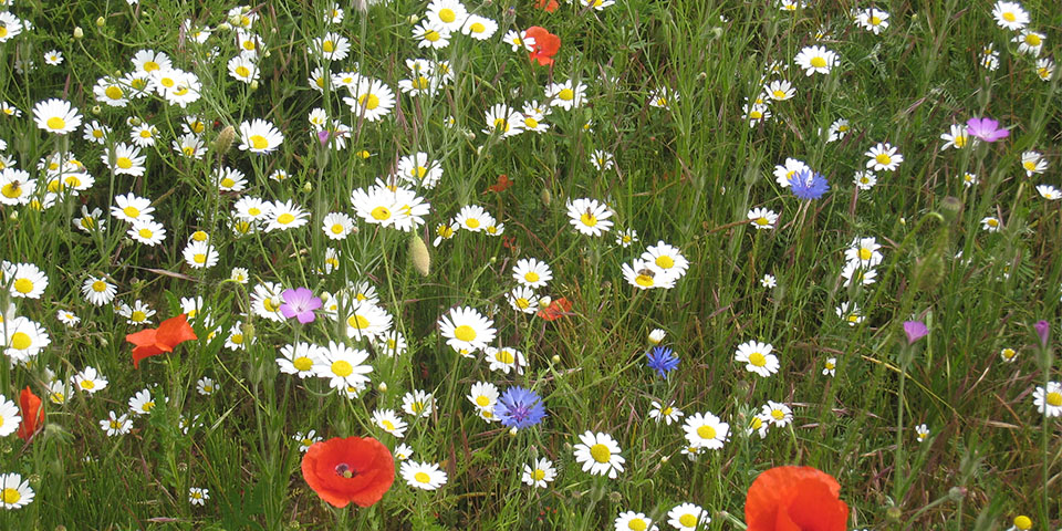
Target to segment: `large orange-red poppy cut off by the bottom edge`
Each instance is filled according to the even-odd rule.
[[[844,531],[848,506],[841,485],[812,467],[774,467],[761,473],[745,501],[748,531]]]

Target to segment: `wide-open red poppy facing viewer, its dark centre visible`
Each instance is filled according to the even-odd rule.
[[[334,437],[314,442],[302,456],[302,477],[335,507],[368,507],[395,482],[395,458],[372,437]]]

